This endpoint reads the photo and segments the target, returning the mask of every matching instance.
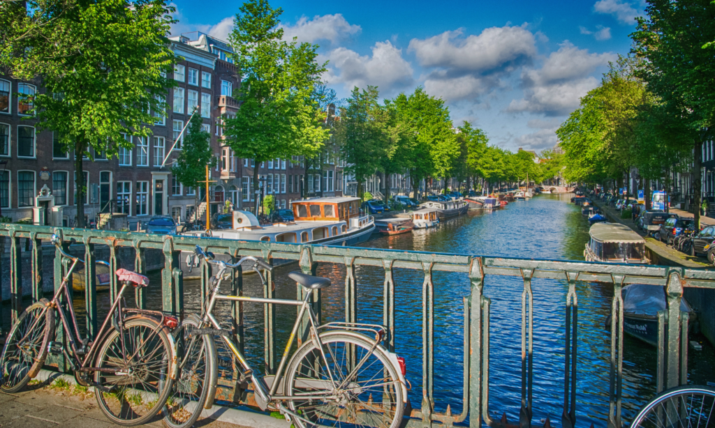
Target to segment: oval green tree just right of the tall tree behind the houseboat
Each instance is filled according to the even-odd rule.
[[[363,183],[375,173],[380,158],[385,156],[389,143],[387,126],[388,113],[378,103],[378,88],[368,86],[360,90],[355,86],[340,111],[335,131],[347,163],[345,171],[358,182],[359,198],[363,198]]]

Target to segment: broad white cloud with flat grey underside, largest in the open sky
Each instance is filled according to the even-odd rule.
[[[478,36],[461,38],[463,31],[445,31],[428,39],[412,39],[423,67],[444,67],[460,71],[489,71],[506,63],[536,55],[536,40],[524,26],[485,29]]]

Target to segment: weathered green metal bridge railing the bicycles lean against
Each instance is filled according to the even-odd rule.
[[[539,424],[532,420],[533,373],[538,368],[533,365],[533,294],[531,281],[534,278],[566,280],[568,293],[566,297],[566,329],[565,361],[563,367],[563,414],[561,424],[572,428],[576,424],[578,409],[576,407],[576,365],[578,352],[578,295],[576,282],[607,282],[613,284],[614,294],[611,303],[611,367],[610,367],[610,399],[608,412],[608,427],[621,427],[621,385],[623,380],[623,300],[621,289],[631,283],[661,285],[666,287],[667,309],[659,314],[659,347],[657,367],[657,389],[675,387],[686,382],[687,362],[687,331],[688,315],[680,312],[680,302],[686,287],[715,288],[715,271],[683,269],[661,266],[611,265],[603,263],[585,263],[555,260],[526,260],[516,258],[491,258],[473,255],[453,255],[440,253],[420,253],[402,250],[375,250],[367,248],[330,247],[322,245],[260,243],[255,241],[223,240],[218,238],[194,238],[185,236],[159,236],[139,233],[124,233],[114,231],[99,231],[71,228],[49,228],[32,225],[0,224],[0,236],[9,237],[10,244],[10,292],[12,319],[15,320],[22,310],[22,272],[21,240],[31,242],[31,275],[32,297],[37,300],[42,295],[42,280],[46,272],[42,270],[41,241],[50,238],[52,233],[60,236],[66,245],[75,240],[84,245],[85,270],[84,282],[85,305],[87,310],[87,332],[92,335],[97,332],[97,291],[96,275],[94,275],[94,246],[109,246],[110,269],[118,267],[117,252],[119,248],[134,248],[136,258],[134,269],[146,272],[144,253],[149,249],[161,250],[164,258],[162,270],[162,306],[166,312],[182,315],[184,310],[184,292],[182,270],[179,268],[179,255],[182,250],[192,251],[194,245],[214,253],[230,253],[231,255],[253,255],[264,258],[272,263],[275,259],[297,260],[305,273],[315,275],[318,263],[343,265],[345,275],[345,322],[358,320],[357,291],[355,268],[359,265],[371,266],[384,272],[383,287],[383,324],[388,327],[387,347],[395,347],[395,280],[393,270],[421,270],[424,275],[422,285],[422,402],[420,409],[410,409],[411,417],[408,426],[431,427],[434,425],[453,426],[464,422],[469,416],[471,427],[479,427],[482,422],[490,427],[530,427]],[[54,285],[59,287],[61,272],[64,267],[59,258],[54,263]],[[464,301],[464,389],[463,402],[454,403],[455,407],[463,409],[460,414],[452,414],[450,407],[443,413],[435,412],[434,408],[434,344],[435,344],[435,295],[433,273],[438,271],[462,272],[468,275],[470,282],[469,295]],[[206,285],[211,276],[209,265],[204,263],[202,272],[202,301]],[[518,423],[510,423],[505,418],[492,419],[489,404],[489,320],[490,299],[483,294],[485,275],[507,275],[523,279],[521,295],[521,409],[518,412]],[[116,295],[118,290],[115,275],[111,275],[109,290]],[[269,286],[264,287],[264,297],[274,297],[275,290],[270,286],[273,272],[267,272]],[[237,270],[233,280],[233,291],[242,293],[242,272]],[[297,297],[303,297],[306,292],[300,285],[296,286]],[[8,296],[2,296],[7,299]],[[137,305],[145,304],[142,289],[137,289]],[[320,320],[321,297],[320,290],[312,291],[312,301]],[[232,314],[235,317],[236,332],[239,342],[243,342],[242,313],[240,305],[235,305]],[[272,305],[265,305],[265,367],[272,372],[276,367],[275,355],[275,312]],[[678,320],[678,322],[667,322]],[[667,325],[666,325],[667,322]],[[9,326],[3,326],[4,330]],[[63,364],[59,361],[59,367]],[[64,367],[66,369],[66,367]],[[230,376],[229,376],[230,377]],[[235,379],[235,378],[234,378]],[[231,379],[223,379],[225,384],[231,384]],[[233,382],[235,384],[235,382]],[[240,392],[240,391],[239,391]],[[245,391],[236,397],[249,404],[251,394]],[[439,424],[433,424],[439,422]],[[550,422],[547,421],[547,425]]]

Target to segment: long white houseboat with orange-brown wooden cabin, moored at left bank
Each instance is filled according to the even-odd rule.
[[[360,198],[297,200],[292,208],[295,221],[271,225],[261,225],[248,211],[234,211],[233,227],[212,230],[212,236],[270,243],[355,245],[368,240],[375,229],[374,218],[360,213]]]

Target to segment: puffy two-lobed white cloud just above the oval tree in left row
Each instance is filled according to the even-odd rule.
[[[413,86],[414,71],[402,57],[402,49],[395,48],[386,40],[375,43],[372,51],[372,56],[361,56],[343,47],[330,51],[327,54],[330,69],[326,73],[326,81],[330,84],[341,83],[347,91],[354,86],[378,86],[383,96]]]

